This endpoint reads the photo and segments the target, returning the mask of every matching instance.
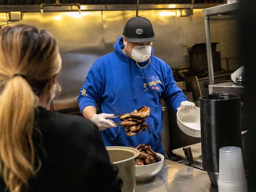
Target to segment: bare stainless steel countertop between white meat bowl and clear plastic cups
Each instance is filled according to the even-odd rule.
[[[218,192],[205,171],[165,160],[151,179],[137,181],[135,192]]]

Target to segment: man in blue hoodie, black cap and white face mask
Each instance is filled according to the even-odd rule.
[[[163,126],[161,102],[163,98],[173,111],[182,108],[187,113],[194,103],[176,86],[171,67],[153,55],[155,39],[150,21],[133,17],[124,27],[123,36],[117,39],[115,51],[97,59],[89,70],[78,94],[78,104],[85,118],[101,130],[106,146],[138,146],[145,143],[152,150],[167,157],[161,143]],[[97,103],[101,111],[96,114]],[[148,131],[128,137],[119,118],[111,116],[130,113],[145,105],[150,115],[145,123]],[[107,129],[108,128],[108,129]]]

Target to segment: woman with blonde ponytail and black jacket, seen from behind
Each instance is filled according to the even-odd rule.
[[[98,128],[47,111],[61,57],[45,30],[0,31],[0,191],[119,191]]]

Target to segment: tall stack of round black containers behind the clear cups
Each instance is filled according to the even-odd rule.
[[[242,147],[241,98],[237,94],[200,97],[202,164],[213,185],[219,177],[219,149]]]

